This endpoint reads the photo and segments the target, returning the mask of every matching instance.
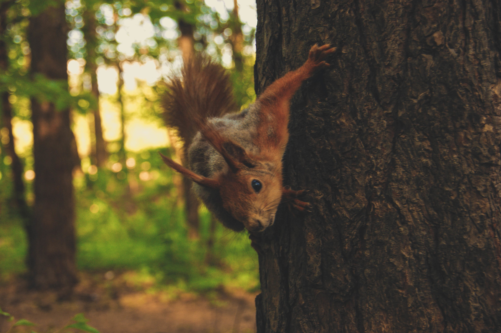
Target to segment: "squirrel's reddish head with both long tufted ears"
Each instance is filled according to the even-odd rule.
[[[207,178],[163,156],[164,162],[195,183],[217,189],[222,206],[252,232],[271,226],[282,199],[281,160],[267,160],[248,154],[243,147],[222,137],[210,124],[199,123],[205,139],[222,155],[227,167]]]

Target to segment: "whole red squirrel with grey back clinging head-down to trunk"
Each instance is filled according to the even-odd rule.
[[[314,45],[308,60],[273,82],[247,109],[234,111],[230,80],[206,56],[186,61],[162,97],[168,125],[184,141],[189,168],[161,157],[195,182],[193,189],[226,227],[260,232],[271,226],[281,202],[303,211],[304,190],[282,184],[282,157],[289,139],[289,104],[295,92],[336,51]]]

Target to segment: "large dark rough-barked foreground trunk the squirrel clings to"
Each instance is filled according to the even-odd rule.
[[[258,332],[499,332],[497,0],[258,1],[256,88],[339,52],[292,102],[259,239]]]

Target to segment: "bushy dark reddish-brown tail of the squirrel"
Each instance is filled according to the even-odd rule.
[[[206,55],[185,61],[181,76],[170,78],[162,107],[166,124],[178,131],[186,148],[199,130],[197,124],[237,110],[229,75]]]

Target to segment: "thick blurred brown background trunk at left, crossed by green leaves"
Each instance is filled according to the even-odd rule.
[[[32,73],[68,80],[65,8],[30,19]],[[69,110],[32,99],[35,206],[29,227],[29,278],[40,288],[71,290],[76,283],[73,133]]]

